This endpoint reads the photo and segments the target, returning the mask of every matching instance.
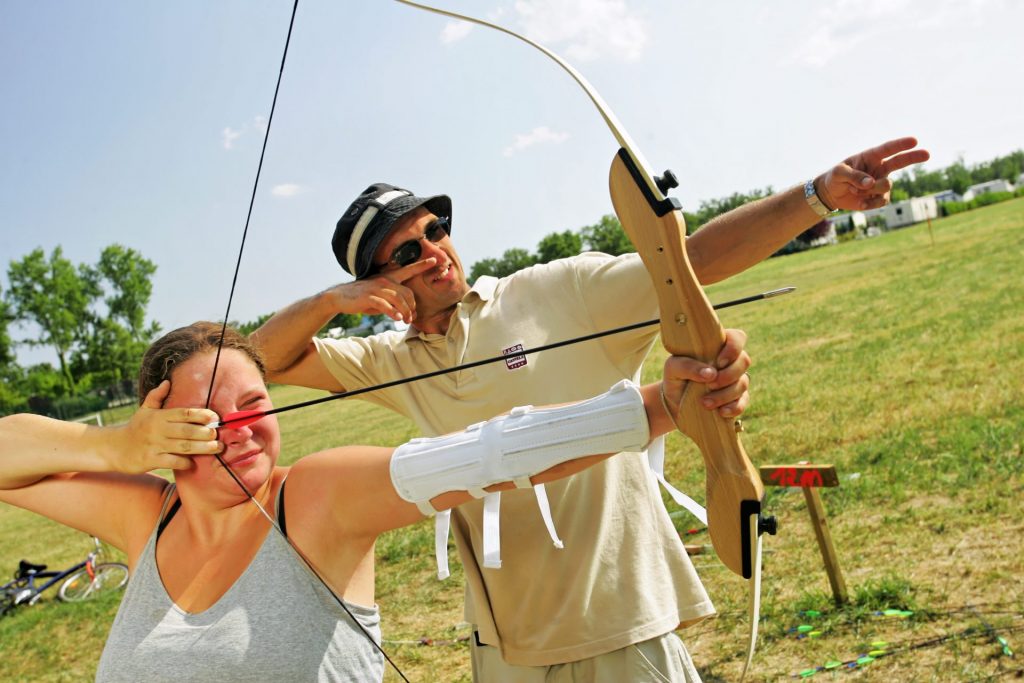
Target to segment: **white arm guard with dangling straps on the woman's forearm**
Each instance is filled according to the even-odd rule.
[[[391,456],[391,481],[398,495],[433,514],[430,499],[453,490],[475,498],[484,487],[514,481],[529,487],[529,477],[569,460],[602,453],[642,451],[649,437],[640,390],[624,380],[600,396],[560,408],[513,409],[509,415],[481,422],[465,431],[435,438],[416,438]],[[484,505],[484,566],[501,566],[498,544],[498,494]],[[538,489],[542,514],[557,546],[547,498]],[[438,517],[438,523],[445,519]],[[489,537],[489,538],[488,538]],[[444,539],[447,538],[446,529]],[[446,574],[438,530],[439,574]]]

